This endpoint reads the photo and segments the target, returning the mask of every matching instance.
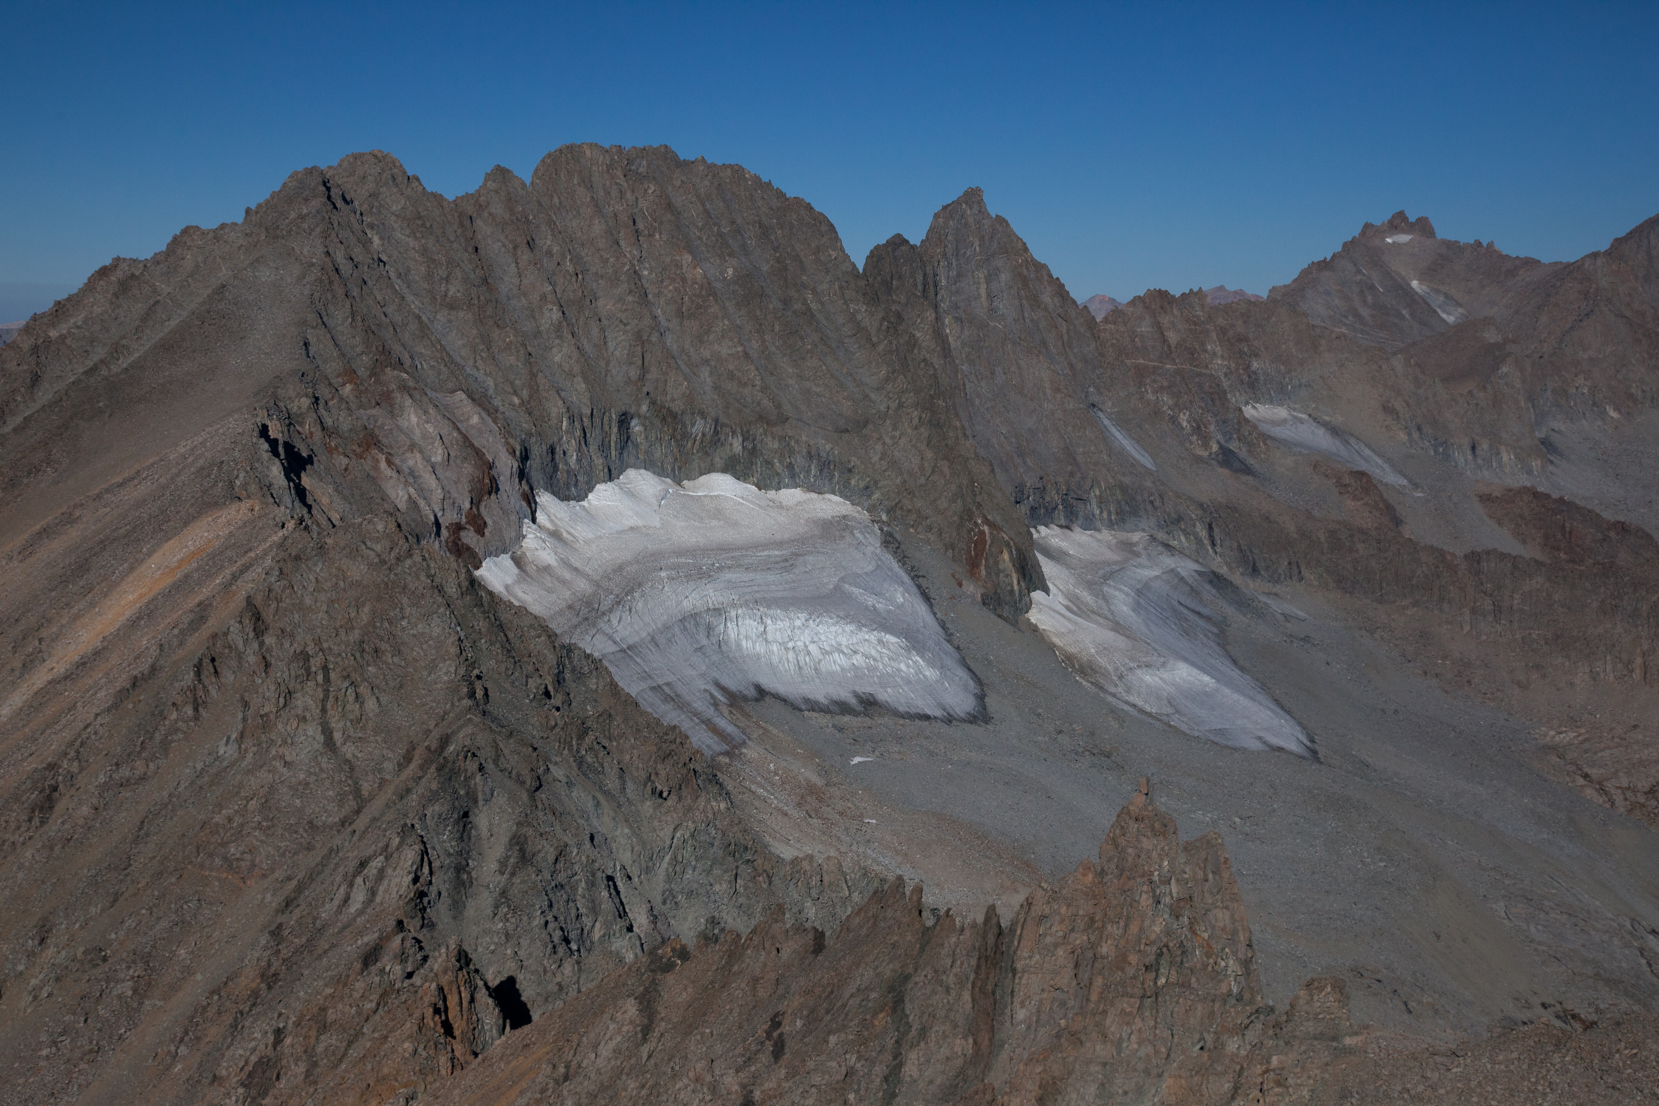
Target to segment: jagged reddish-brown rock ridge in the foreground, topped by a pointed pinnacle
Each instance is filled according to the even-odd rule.
[[[436,1101],[1287,1101],[1357,1041],[1339,980],[1262,1007],[1221,839],[1181,842],[1143,791],[1005,925],[929,917],[894,882],[828,937],[775,914],[672,942]]]

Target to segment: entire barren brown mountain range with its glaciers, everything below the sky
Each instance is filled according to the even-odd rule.
[[[1568,1088],[1659,1011],[1656,229],[1095,318],[977,189],[856,265],[567,146],[111,262],[0,348],[5,1086]]]

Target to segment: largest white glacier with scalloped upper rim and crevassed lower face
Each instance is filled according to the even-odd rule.
[[[982,715],[974,673],[844,499],[629,469],[581,502],[539,492],[536,507],[479,580],[604,660],[705,753],[743,741],[720,710],[732,696]]]

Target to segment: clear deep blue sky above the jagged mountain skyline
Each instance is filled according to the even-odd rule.
[[[1266,292],[1399,207],[1569,259],[1659,212],[1659,3],[78,7],[0,13],[0,322],[395,153],[572,141],[803,196],[859,264],[969,186],[1078,298]]]

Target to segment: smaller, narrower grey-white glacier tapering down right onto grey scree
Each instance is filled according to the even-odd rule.
[[[1035,531],[1048,592],[1030,620],[1112,698],[1241,749],[1312,756],[1312,741],[1221,643],[1211,574],[1146,534]]]

